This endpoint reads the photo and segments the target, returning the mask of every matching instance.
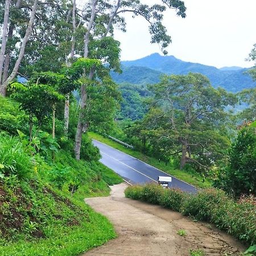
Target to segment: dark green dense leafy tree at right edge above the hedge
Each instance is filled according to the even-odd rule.
[[[216,186],[239,197],[241,194],[256,195],[256,129],[243,127],[229,152],[229,164],[222,168]]]

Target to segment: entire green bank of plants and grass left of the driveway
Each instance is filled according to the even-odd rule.
[[[97,161],[87,137],[80,161],[71,139],[61,129],[53,139],[47,122],[30,141],[19,106],[0,96],[1,255],[78,255],[114,238],[112,224],[84,198],[108,196],[121,177]]]

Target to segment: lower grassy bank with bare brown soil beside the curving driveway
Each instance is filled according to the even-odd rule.
[[[108,219],[81,200],[85,195],[71,197],[38,181],[5,181],[0,188],[1,256],[79,255],[116,237]]]

